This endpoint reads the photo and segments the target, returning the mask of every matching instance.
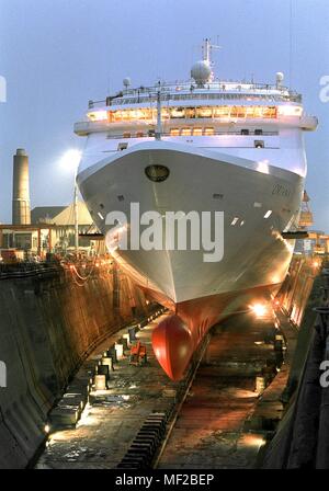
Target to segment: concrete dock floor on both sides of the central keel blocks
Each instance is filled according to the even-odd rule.
[[[164,375],[150,345],[158,322],[138,333],[147,345],[148,365],[131,366],[127,357],[121,361],[112,374],[110,390],[91,396],[76,429],[49,436],[36,468],[115,468],[148,414],[172,403],[168,396],[180,384]],[[260,432],[247,431],[245,423],[259,401],[256,376],[274,359],[273,344],[265,342],[273,328],[272,316],[256,320],[251,315],[239,315],[214,329],[159,468],[256,467],[264,439]],[[104,343],[82,370],[88,373],[121,334]]]

